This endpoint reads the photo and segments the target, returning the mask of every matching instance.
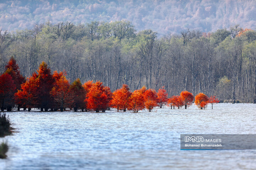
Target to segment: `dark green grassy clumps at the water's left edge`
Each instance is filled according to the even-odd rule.
[[[0,138],[12,134],[13,129],[10,125],[9,116],[6,117],[6,114],[0,113]],[[0,159],[5,159],[7,157],[6,152],[8,149],[7,142],[0,143]]]

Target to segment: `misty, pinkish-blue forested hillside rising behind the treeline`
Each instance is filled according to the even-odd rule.
[[[212,32],[240,24],[256,27],[255,0],[28,0],[0,3],[0,29],[32,28],[36,23],[70,21],[131,21],[137,31],[152,29],[159,35],[180,33],[186,28]]]

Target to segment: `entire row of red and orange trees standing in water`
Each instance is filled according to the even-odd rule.
[[[123,85],[113,93],[109,87],[104,86],[100,81],[93,83],[87,81],[81,84],[80,79],[73,83],[65,77],[65,72],[58,73],[51,70],[45,62],[42,62],[30,78],[25,80],[20,74],[18,65],[14,58],[11,58],[6,66],[6,72],[0,76],[0,101],[1,110],[15,106],[28,108],[39,108],[41,111],[56,111],[65,108],[73,108],[74,111],[94,110],[105,112],[107,108],[116,108],[117,111],[131,110],[138,112],[144,108],[149,112],[156,106],[162,108],[167,105],[171,108],[185,109],[193,103],[194,96],[188,92],[181,92],[180,96],[167,98],[168,94],[164,87],[156,92],[153,89],[142,89],[130,92],[128,85]],[[199,108],[205,108],[208,103],[219,102],[215,96],[208,98],[200,93],[195,97],[195,103]]]

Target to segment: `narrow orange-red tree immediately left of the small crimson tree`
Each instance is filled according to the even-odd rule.
[[[146,109],[151,112],[154,107],[158,106],[156,91],[152,89],[146,90],[144,93],[144,101]]]

